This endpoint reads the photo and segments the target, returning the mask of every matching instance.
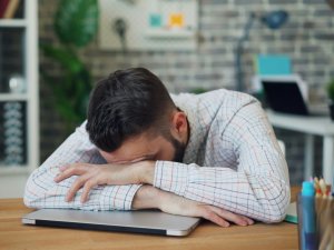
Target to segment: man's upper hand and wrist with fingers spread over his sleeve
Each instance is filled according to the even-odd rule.
[[[60,173],[55,178],[60,182],[69,177],[79,176],[69,189],[66,200],[71,201],[80,188],[81,202],[88,200],[90,189],[101,184],[139,184],[153,183],[153,161],[141,161],[129,164],[88,164],[73,163],[61,167]]]

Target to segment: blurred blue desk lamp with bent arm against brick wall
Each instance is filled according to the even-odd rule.
[[[236,50],[235,50],[235,72],[237,81],[237,90],[244,90],[244,79],[243,79],[243,66],[242,66],[242,56],[244,52],[244,42],[248,40],[249,31],[254,24],[254,21],[259,20],[263,24],[272,30],[279,29],[287,20],[288,13],[284,10],[271,11],[265,14],[256,14],[252,12],[249,18],[244,27],[243,36],[238,39]]]

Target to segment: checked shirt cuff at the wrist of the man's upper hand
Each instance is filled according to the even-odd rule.
[[[184,196],[188,187],[189,166],[173,161],[157,161],[154,187]]]

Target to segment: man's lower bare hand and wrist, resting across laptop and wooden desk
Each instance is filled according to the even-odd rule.
[[[228,227],[229,222],[238,226],[249,226],[254,223],[254,221],[247,217],[214,206],[188,200],[177,194],[161,191],[151,186],[144,186],[137,191],[132,208],[158,208],[167,213],[200,217],[219,224],[220,227]]]

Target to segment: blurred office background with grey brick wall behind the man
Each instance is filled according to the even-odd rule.
[[[85,120],[94,84],[129,67],[151,70],[174,93],[226,88],[254,94],[264,108],[271,103],[263,78],[296,81],[305,103],[326,116],[272,113],[291,183],[315,174],[330,180],[331,7],[330,0],[1,0],[0,197],[22,196],[29,173]]]

